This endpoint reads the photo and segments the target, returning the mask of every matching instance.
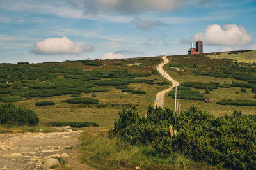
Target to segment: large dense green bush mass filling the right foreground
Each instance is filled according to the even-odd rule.
[[[219,168],[256,169],[256,116],[234,111],[214,117],[191,106],[179,117],[170,108],[148,107],[147,118],[136,108],[124,109],[109,133],[132,145],[150,146],[157,157],[180,152]],[[169,126],[177,131],[170,136]]]

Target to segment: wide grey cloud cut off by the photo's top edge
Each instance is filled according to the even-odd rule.
[[[141,11],[172,11],[186,4],[185,0],[68,0],[73,6],[84,8],[87,13],[113,11],[134,13]]]

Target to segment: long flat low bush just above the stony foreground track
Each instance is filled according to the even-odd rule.
[[[49,126],[70,126],[70,127],[98,127],[99,125],[94,122],[49,122],[47,123]]]

